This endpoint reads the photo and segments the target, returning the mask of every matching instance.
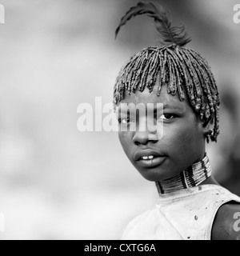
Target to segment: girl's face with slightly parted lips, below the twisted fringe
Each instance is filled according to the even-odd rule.
[[[119,129],[122,148],[139,173],[152,182],[161,182],[180,174],[194,162],[202,160],[205,154],[206,128],[203,128],[190,103],[187,99],[180,102],[178,94],[168,94],[166,86],[162,86],[161,94],[157,96],[157,87],[154,86],[152,93],[144,90],[127,94],[118,106],[118,110],[121,110],[121,118],[118,120],[122,126],[136,126],[134,131]],[[147,117],[139,111],[133,117],[129,114],[132,112],[126,110],[126,104],[122,103],[134,103],[131,106],[139,103],[144,106],[153,103],[157,106],[157,103],[162,103],[163,110]],[[158,131],[148,129],[146,120],[159,123],[160,126],[162,123],[162,136],[159,136]],[[141,129],[144,126],[146,130]]]

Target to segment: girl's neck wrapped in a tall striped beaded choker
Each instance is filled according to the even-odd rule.
[[[167,194],[200,184],[218,185],[214,178],[211,178],[211,173],[210,160],[205,154],[205,157],[200,162],[195,162],[186,170],[183,170],[181,174],[162,182],[156,182],[158,194]]]

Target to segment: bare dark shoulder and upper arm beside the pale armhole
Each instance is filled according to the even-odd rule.
[[[240,240],[240,204],[222,205],[214,219],[212,240]]]

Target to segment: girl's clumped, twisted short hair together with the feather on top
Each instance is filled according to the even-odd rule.
[[[114,85],[114,109],[125,94],[149,90],[158,86],[157,95],[166,84],[168,94],[178,94],[179,100],[186,97],[194,111],[206,125],[213,122],[210,139],[217,142],[219,134],[219,98],[218,88],[210,66],[194,50],[184,46],[191,41],[185,27],[171,26],[171,22],[162,6],[156,2],[139,2],[137,6],[122,17],[116,30],[134,16],[147,14],[154,18],[155,26],[161,34],[161,46],[150,46],[130,58],[118,74]],[[156,85],[158,79],[158,84]]]

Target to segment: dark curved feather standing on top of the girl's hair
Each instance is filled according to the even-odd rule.
[[[175,44],[177,46],[185,46],[191,41],[185,30],[185,26],[172,26],[171,21],[166,14],[166,10],[162,8],[157,2],[138,2],[137,6],[130,8],[128,12],[122,17],[117,30],[115,31],[115,38],[122,26],[126,24],[134,16],[147,14],[150,18],[154,18],[156,29],[161,35],[162,45]]]

